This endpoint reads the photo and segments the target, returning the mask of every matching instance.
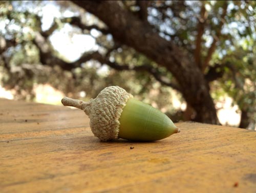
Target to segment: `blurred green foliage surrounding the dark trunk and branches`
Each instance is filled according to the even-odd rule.
[[[47,1],[1,1],[0,2],[0,69],[2,84],[7,89],[17,90],[17,99],[33,100],[34,84],[50,83],[68,96],[80,98],[81,91],[86,99],[94,98],[97,93],[109,85],[119,85],[130,91],[146,103],[156,103],[164,111],[174,112],[172,106],[173,89],[157,82],[154,77],[143,71],[116,71],[110,67],[102,68],[97,61],[88,61],[70,71],[59,65],[46,66],[41,63],[40,50],[35,44],[35,36],[42,31],[42,9],[49,5]],[[53,32],[64,29],[66,22],[61,20],[65,12],[72,16],[81,15],[84,25],[97,25],[105,28],[104,23],[89,13],[84,13],[68,1],[51,2],[58,7],[59,14],[53,19],[57,25]],[[227,9],[225,13],[225,6]],[[136,1],[121,1],[120,5],[138,15],[140,8]],[[204,18],[201,9],[205,8]],[[209,56],[209,47],[216,40],[216,48],[210,57],[209,67],[221,65],[223,77],[210,84],[211,95],[215,100],[228,94],[240,109],[249,113],[250,120],[256,119],[256,3],[255,1],[150,1],[148,3],[148,22],[160,36],[181,47],[181,50],[194,57],[198,35],[198,23],[203,23],[200,62]],[[223,14],[225,13],[225,14]],[[115,22],[115,21],[113,21]],[[53,33],[52,32],[52,33]],[[150,65],[156,68],[166,82],[175,82],[172,74],[151,59],[126,45],[118,44],[113,37],[92,30],[81,30],[72,26],[70,37],[76,34],[92,35],[98,51],[103,55],[117,46],[109,54],[109,59],[120,65]],[[52,34],[51,33],[51,34]],[[51,34],[49,37],[51,37]],[[49,37],[46,44],[53,56],[64,61],[69,59],[61,55],[51,45]],[[2,42],[5,41],[5,46]],[[170,64],[172,65],[172,64]],[[105,66],[105,65],[103,65]],[[101,72],[103,70],[103,73]],[[101,72],[101,73],[100,73]],[[180,100],[183,99],[179,95]]]

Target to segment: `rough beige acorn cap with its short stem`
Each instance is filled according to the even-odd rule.
[[[133,95],[119,86],[106,87],[89,102],[69,99],[61,100],[64,106],[73,106],[83,110],[90,118],[93,134],[102,141],[118,139],[119,118],[126,102]]]

